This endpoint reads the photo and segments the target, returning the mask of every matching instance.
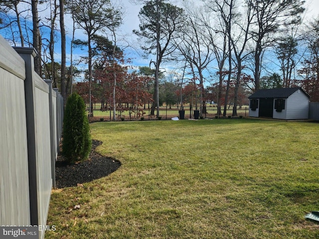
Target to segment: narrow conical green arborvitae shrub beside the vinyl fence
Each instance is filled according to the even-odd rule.
[[[87,159],[92,141],[85,103],[76,93],[69,96],[63,119],[62,153],[69,163]]]

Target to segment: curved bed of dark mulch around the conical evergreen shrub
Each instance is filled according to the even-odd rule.
[[[92,150],[89,159],[84,162],[68,164],[59,153],[55,163],[56,188],[73,187],[105,177],[121,166],[121,162],[98,154],[95,149],[101,141],[92,140]]]

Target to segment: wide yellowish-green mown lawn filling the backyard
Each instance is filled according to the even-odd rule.
[[[319,211],[318,123],[98,122],[91,133],[122,166],[53,190],[46,238],[319,238],[304,219]]]

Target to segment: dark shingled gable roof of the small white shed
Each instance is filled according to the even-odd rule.
[[[279,88],[279,89],[265,89],[258,90],[252,94],[248,99],[258,99],[258,98],[288,98],[294,94],[297,90],[301,90],[309,97],[309,95],[300,87],[296,88]]]

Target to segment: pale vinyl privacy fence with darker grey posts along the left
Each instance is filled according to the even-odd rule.
[[[33,48],[0,36],[0,225],[45,226],[63,99],[34,72]],[[44,231],[39,231],[44,238]]]

